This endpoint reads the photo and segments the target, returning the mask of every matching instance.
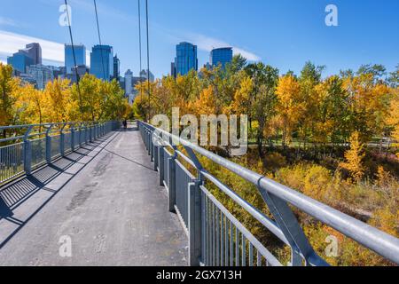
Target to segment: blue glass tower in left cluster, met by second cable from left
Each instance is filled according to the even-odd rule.
[[[101,55],[103,59],[101,59]],[[103,65],[104,63],[104,65]],[[104,67],[104,68],[103,68]],[[110,81],[113,76],[113,47],[94,45],[90,53],[90,74],[98,79]]]

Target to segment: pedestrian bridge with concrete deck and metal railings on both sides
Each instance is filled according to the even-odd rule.
[[[286,265],[207,188],[326,265],[288,206],[399,263],[399,240],[145,122],[0,127],[0,265]],[[257,186],[273,218],[223,185],[205,156]],[[191,170],[188,170],[190,168]]]

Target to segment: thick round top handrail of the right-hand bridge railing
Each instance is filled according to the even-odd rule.
[[[297,209],[301,209],[301,211],[315,217],[325,225],[329,225],[333,229],[343,233],[354,241],[357,241],[365,248],[370,248],[380,256],[386,257],[395,264],[399,264],[399,239],[394,236],[384,233],[372,225],[365,224],[354,217],[350,217],[337,209],[332,209],[332,207],[299,193],[286,185],[278,184],[276,181],[273,181],[268,177],[263,177],[253,170],[248,170],[237,163],[209,152],[200,146],[194,145],[187,140],[169,133],[168,131],[155,128],[145,122],[139,123],[151,132],[156,130],[158,132],[157,136],[161,137],[168,145],[170,145],[171,141],[176,141],[185,148],[192,149],[210,161],[222,166],[224,169],[230,170],[239,177],[242,177],[246,179],[246,181],[256,185],[261,193],[263,191],[277,196],[279,199],[290,203]],[[209,175],[205,169],[200,169],[200,173]]]

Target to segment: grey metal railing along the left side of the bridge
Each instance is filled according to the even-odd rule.
[[[60,122],[0,126],[0,185],[119,127],[119,122]],[[6,133],[9,133],[8,137]],[[4,145],[4,146],[2,146]]]

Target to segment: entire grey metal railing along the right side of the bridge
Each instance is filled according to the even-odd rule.
[[[164,185],[168,190],[169,211],[177,213],[188,236],[190,265],[282,265],[278,258],[209,192],[205,186],[206,182],[215,185],[291,248],[290,265],[328,264],[309,244],[288,204],[331,226],[365,248],[370,248],[387,260],[399,264],[399,239],[394,236],[200,146],[155,129],[150,124],[138,122],[138,128],[148,154],[151,155],[154,170],[160,173],[160,185]],[[158,142],[154,143],[154,137]],[[179,150],[176,141],[184,147],[187,154]],[[265,216],[204,169],[197,154],[255,185],[273,219]],[[194,177],[178,158],[195,169],[197,177]]]

